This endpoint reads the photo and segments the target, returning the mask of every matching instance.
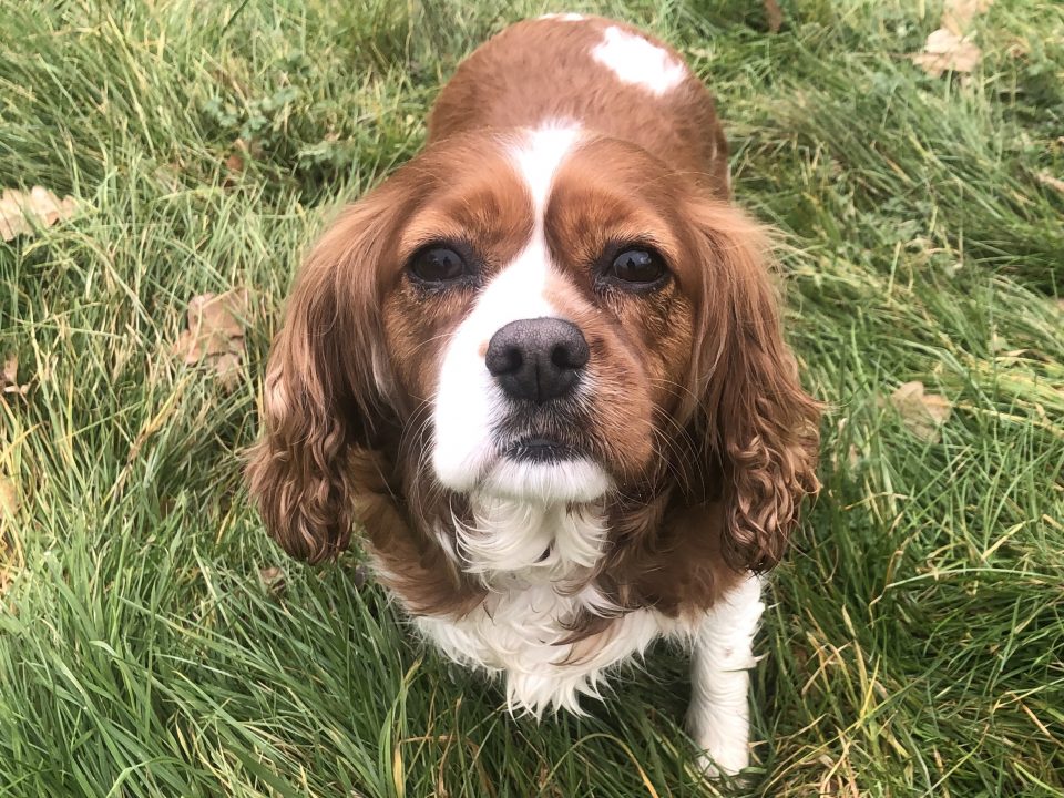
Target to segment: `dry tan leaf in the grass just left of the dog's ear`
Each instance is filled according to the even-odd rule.
[[[206,361],[225,388],[239,381],[244,355],[244,324],[248,313],[246,288],[203,294],[188,303],[188,329],[182,330],[174,352],[188,366]]]

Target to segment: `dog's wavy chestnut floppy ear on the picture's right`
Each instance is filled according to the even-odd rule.
[[[697,434],[705,472],[723,481],[723,553],[733,567],[760,572],[779,562],[802,498],[819,490],[820,405],[802,390],[780,331],[765,233],[717,201],[693,214],[706,290]]]

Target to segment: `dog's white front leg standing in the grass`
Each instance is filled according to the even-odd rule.
[[[761,581],[750,576],[718,601],[695,632],[687,728],[709,776],[737,774],[749,764],[748,669],[757,662],[754,635],[764,610]]]

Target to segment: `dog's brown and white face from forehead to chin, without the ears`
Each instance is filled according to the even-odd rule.
[[[405,225],[386,345],[431,407],[447,489],[592,501],[645,477],[690,390],[693,231],[634,149],[573,129],[499,146],[489,181],[450,182]]]

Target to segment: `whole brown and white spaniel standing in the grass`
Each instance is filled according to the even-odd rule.
[[[729,193],[674,50],[597,17],[508,28],[303,265],[250,482],[294,555],[364,529],[511,710],[579,710],[656,637],[689,644],[690,732],[734,773],[757,574],[817,489],[819,411]]]

